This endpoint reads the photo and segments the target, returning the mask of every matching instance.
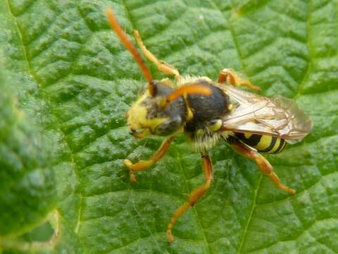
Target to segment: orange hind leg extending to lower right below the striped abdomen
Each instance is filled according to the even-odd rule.
[[[260,155],[255,149],[239,142],[234,138],[231,138],[230,144],[234,151],[239,153],[239,155],[243,155],[244,157],[249,159],[254,159],[256,161],[256,164],[258,165],[258,168],[263,172],[263,174],[270,177],[270,180],[275,183],[275,186],[277,186],[277,188],[280,188],[283,191],[287,191],[292,195],[296,194],[296,191],[293,188],[282,185],[277,174],[275,174],[275,171],[273,171],[273,166],[271,166],[268,160]]]

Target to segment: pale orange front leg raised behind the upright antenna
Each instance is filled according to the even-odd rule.
[[[153,62],[157,66],[158,70],[165,74],[175,75],[175,79],[180,81],[180,73],[177,71],[177,68],[171,66],[169,63],[165,63],[165,61],[158,60],[156,56],[154,56],[154,54],[146,49],[146,46],[144,46],[141,35],[139,35],[139,31],[134,30],[133,33],[137,44],[139,44],[139,47],[142,49],[144,56],[146,56],[149,61]]]

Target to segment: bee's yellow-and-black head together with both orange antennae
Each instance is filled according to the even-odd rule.
[[[144,138],[151,134],[167,136],[176,133],[184,125],[187,115],[187,106],[182,95],[188,93],[211,95],[211,90],[199,85],[187,85],[174,90],[169,85],[154,80],[136,47],[120,27],[113,11],[107,9],[106,14],[111,28],[138,63],[144,78],[148,80],[148,89],[127,111],[127,123],[132,135]],[[139,37],[136,31],[134,34],[136,38]]]

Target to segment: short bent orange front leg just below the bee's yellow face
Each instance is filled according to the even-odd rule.
[[[129,169],[130,173],[130,181],[136,181],[136,178],[134,176],[134,171],[142,171],[149,167],[151,167],[153,164],[158,162],[159,159],[161,159],[165,152],[168,151],[168,148],[170,147],[170,143],[173,142],[175,137],[170,137],[165,140],[163,140],[163,143],[160,148],[158,148],[157,152],[148,160],[140,160],[139,162],[133,164],[130,162],[129,159],[125,159],[124,164],[125,167]]]

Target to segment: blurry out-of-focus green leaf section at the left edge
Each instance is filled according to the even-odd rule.
[[[47,142],[15,105],[0,80],[0,236],[18,234],[41,220],[53,206],[54,171]]]

